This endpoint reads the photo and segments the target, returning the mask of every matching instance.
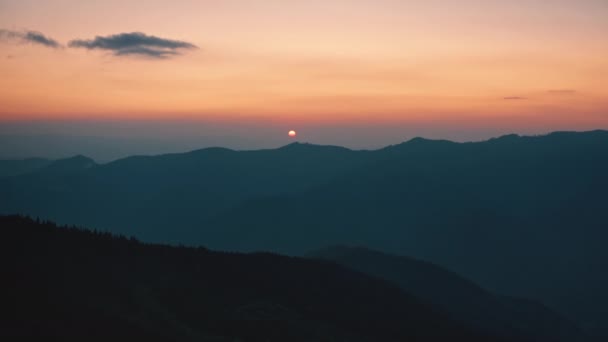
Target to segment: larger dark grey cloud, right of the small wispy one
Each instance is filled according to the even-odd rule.
[[[107,50],[115,56],[132,55],[150,58],[168,58],[179,55],[181,50],[198,48],[194,44],[181,40],[148,36],[141,32],[97,36],[95,39],[75,39],[70,41],[68,46],[88,50]]]

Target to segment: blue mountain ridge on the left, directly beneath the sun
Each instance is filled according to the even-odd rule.
[[[0,180],[0,213],[112,227],[146,241],[186,242],[188,232],[208,217],[244,200],[328,182],[363,163],[366,154],[294,143],[275,150],[135,156],[65,177],[41,170]],[[182,228],[167,230],[176,218]]]

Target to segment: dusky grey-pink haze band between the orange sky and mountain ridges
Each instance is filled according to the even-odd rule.
[[[287,135],[290,129],[297,137]],[[180,120],[30,121],[0,125],[0,159],[60,159],[85,155],[109,162],[131,155],[188,152],[207,147],[235,150],[278,148],[292,142],[372,150],[415,137],[456,142],[482,141],[507,134],[544,135],[555,131],[589,131],[604,127],[548,126],[477,130],[441,129],[434,125],[310,125],[277,122],[221,123]]]

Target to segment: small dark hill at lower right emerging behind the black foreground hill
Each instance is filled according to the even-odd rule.
[[[463,324],[517,341],[584,341],[571,321],[533,301],[495,295],[442,267],[367,248],[333,246],[307,255],[399,285]]]

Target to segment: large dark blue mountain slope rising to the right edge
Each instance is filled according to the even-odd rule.
[[[534,298],[608,336],[608,132],[415,139],[307,192],[241,203],[201,227],[220,249],[335,244],[410,255]]]

